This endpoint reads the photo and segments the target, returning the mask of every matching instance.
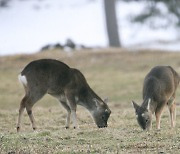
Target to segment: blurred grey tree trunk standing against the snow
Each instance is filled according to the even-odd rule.
[[[109,39],[109,46],[120,47],[121,43],[118,33],[115,3],[116,0],[104,0],[106,28]]]

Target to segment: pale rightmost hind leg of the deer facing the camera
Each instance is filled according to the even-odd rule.
[[[176,103],[174,97],[168,101],[168,108],[170,113],[171,128],[174,128],[176,121]]]

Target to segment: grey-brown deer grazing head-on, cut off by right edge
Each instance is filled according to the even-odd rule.
[[[160,129],[160,120],[164,107],[170,112],[171,127],[175,127],[175,92],[180,78],[170,66],[156,66],[147,74],[143,85],[143,103],[141,106],[132,101],[137,121],[143,130],[152,127],[152,114],[156,116],[156,128]]]

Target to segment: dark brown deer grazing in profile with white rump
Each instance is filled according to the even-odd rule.
[[[90,111],[99,128],[107,127],[111,110],[105,101],[89,87],[79,70],[70,68],[57,60],[41,59],[29,63],[19,75],[19,80],[24,86],[25,96],[19,108],[18,132],[25,108],[33,129],[36,129],[32,107],[46,93],[57,98],[67,110],[66,128],[69,128],[71,114],[73,127],[77,127],[77,105],[81,105]]]

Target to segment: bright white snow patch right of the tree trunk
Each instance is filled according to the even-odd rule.
[[[155,48],[169,51],[180,51],[180,29],[175,28],[176,18],[169,14],[163,3],[158,3],[164,15],[171,19],[153,17],[146,24],[131,23],[132,15],[137,15],[145,9],[146,1],[140,2],[119,2],[117,5],[117,15],[119,19],[119,31],[123,46],[129,48]],[[171,22],[170,24],[168,22]],[[164,25],[169,24],[165,28]],[[164,26],[164,28],[150,28]]]

